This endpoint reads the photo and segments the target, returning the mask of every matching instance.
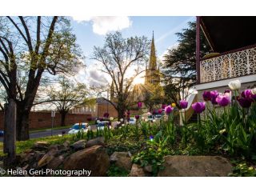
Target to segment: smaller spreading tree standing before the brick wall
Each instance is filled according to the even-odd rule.
[[[66,114],[73,106],[85,101],[88,90],[84,84],[74,83],[63,75],[58,78],[58,85],[59,89],[54,85],[47,91],[48,102],[57,107],[62,117],[61,126],[65,126]]]

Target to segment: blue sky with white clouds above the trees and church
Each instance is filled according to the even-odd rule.
[[[94,46],[103,46],[105,35],[118,30],[124,38],[132,36],[146,36],[151,40],[154,30],[154,41],[159,59],[166,50],[178,44],[175,33],[187,27],[187,22],[195,21],[195,17],[70,17],[71,27],[76,34],[77,42],[85,55],[86,68],[75,75],[78,82],[89,85],[110,83],[110,77],[100,72],[100,66],[95,64],[92,57]],[[142,78],[139,81],[143,81]]]

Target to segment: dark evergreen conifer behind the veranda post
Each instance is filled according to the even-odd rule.
[[[196,82],[196,23],[189,22],[189,28],[177,33],[178,46],[168,50],[164,55],[165,90],[173,100],[178,100],[179,93]],[[203,34],[200,34],[200,56],[209,54],[210,46]],[[168,93],[166,93],[168,94]],[[184,96],[184,95],[183,95]]]

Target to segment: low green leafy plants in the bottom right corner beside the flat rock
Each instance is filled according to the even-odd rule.
[[[255,177],[256,169],[253,166],[247,166],[246,162],[238,163],[234,166],[233,173],[230,173],[231,177]]]

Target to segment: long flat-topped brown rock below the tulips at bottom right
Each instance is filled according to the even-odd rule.
[[[226,177],[232,166],[226,158],[219,156],[166,156],[162,177]]]

